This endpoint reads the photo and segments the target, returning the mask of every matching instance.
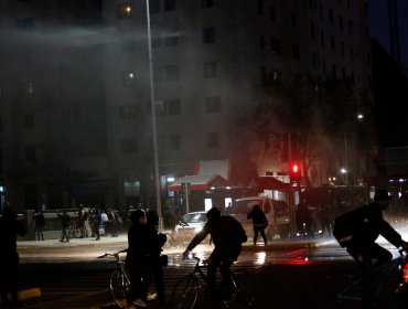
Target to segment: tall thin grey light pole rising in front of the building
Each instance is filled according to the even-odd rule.
[[[160,172],[159,172],[159,151],[158,151],[158,134],[155,126],[155,99],[154,99],[154,78],[153,78],[153,54],[151,49],[151,29],[150,29],[150,10],[149,0],[146,0],[146,19],[148,23],[148,46],[149,46],[149,75],[150,75],[150,105],[151,105],[151,126],[153,136],[153,157],[154,157],[154,183],[155,183],[155,204],[158,215],[160,217],[159,228],[163,230],[163,216],[161,211],[161,190],[160,190]]]

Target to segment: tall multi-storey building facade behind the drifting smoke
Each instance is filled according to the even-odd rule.
[[[3,174],[25,207],[154,205],[158,183],[164,202],[167,179],[205,160],[282,174],[289,162],[261,158],[254,149],[266,146],[237,129],[265,85],[348,78],[371,96],[364,0],[45,2],[2,2],[11,43],[0,61],[13,72],[0,72]],[[26,40],[8,36],[15,24]],[[329,161],[314,184],[328,182]]]

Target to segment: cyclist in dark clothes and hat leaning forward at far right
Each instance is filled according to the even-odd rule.
[[[408,243],[402,241],[401,235],[395,231],[383,217],[383,211],[388,206],[391,196],[386,190],[377,190],[374,202],[355,211],[355,220],[358,228],[347,242],[347,252],[357,263],[362,273],[363,308],[375,308],[373,292],[374,269],[389,263],[393,254],[379,246],[375,241],[379,235],[396,247],[408,251]]]

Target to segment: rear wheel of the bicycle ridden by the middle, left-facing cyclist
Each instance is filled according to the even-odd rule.
[[[257,286],[251,273],[247,269],[234,269],[232,276],[236,283],[236,291],[224,299],[224,307],[256,308]]]

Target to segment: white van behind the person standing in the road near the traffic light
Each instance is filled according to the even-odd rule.
[[[247,214],[258,204],[268,219],[269,225],[265,230],[269,239],[278,236],[286,238],[289,236],[289,207],[283,201],[275,201],[268,196],[248,196],[233,201],[226,213],[234,216],[243,224],[248,236],[254,235],[253,220],[247,219]]]

